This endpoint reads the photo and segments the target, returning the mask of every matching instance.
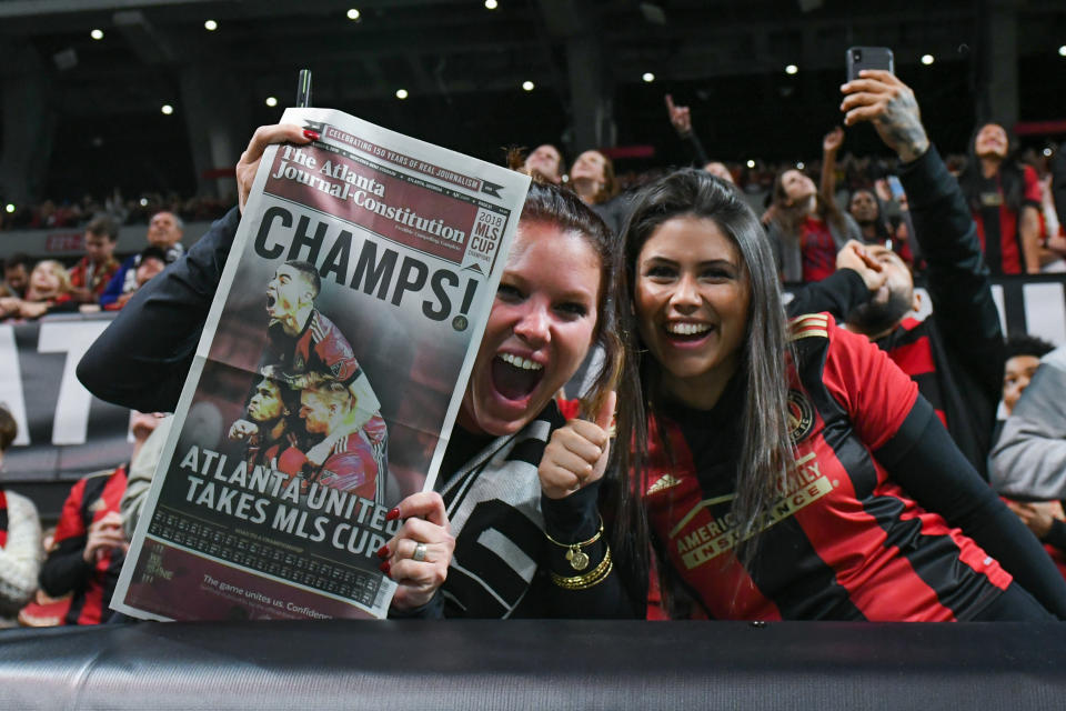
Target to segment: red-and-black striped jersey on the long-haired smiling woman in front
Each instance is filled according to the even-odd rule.
[[[717,619],[935,621],[980,612],[1010,574],[912,499],[875,455],[889,441],[908,444],[901,428],[917,385],[827,314],[797,318],[793,337],[796,461],[760,524],[752,562],[733,554],[731,512],[743,378],[710,412],[672,407],[651,423],[645,502],[673,570]]]

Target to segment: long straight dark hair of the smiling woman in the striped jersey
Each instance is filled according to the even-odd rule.
[[[640,191],[624,230],[623,249],[619,250],[615,301],[625,334],[625,365],[619,388],[619,402],[623,403],[619,410],[619,441],[632,442],[632,448],[622,452],[621,473],[628,477],[626,490],[638,500],[647,463],[648,418],[660,421],[663,400],[663,393],[656,388],[661,367],[644,356],[647,349],[637,330],[638,314],[634,306],[637,257],[663,223],[686,216],[717,224],[740,251],[748,281],[747,329],[736,373],[745,379],[746,390],[740,412],[743,439],[733,514],[738,521],[741,540],[745,541],[737,547],[737,555],[751,560],[755,555],[755,534],[762,528],[761,521],[780,495],[778,487],[793,460],[786,421],[785,312],[776,263],[758,219],[733,186],[702,170],[681,170]],[[666,448],[665,441],[663,445]],[[643,507],[626,509],[624,513],[635,527],[631,548],[624,552],[638,565],[634,574],[643,570],[643,579],[647,580],[648,533]]]

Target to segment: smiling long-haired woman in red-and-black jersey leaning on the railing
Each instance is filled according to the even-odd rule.
[[[658,561],[651,617],[1066,614],[1063,579],[916,384],[828,314],[785,322],[770,244],[732,186],[695,170],[651,184],[621,259],[635,338],[619,441],[634,443],[622,467],[646,511],[634,549],[650,539]],[[553,439],[545,459],[560,452]]]

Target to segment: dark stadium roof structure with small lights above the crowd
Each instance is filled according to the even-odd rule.
[[[139,180],[190,184],[228,162],[181,158],[210,122],[197,114],[224,117],[239,154],[292,102],[301,68],[315,106],[490,160],[544,141],[681,159],[666,92],[692,104],[715,154],[786,157],[818,150],[851,46],[891,47],[923,107],[954,112],[966,134],[1004,101],[1016,118],[1059,118],[1064,26],[1060,0],[0,0],[0,104],[10,117],[36,103],[19,120],[50,127],[42,189],[71,187],[56,156],[117,143],[159,157]],[[26,82],[39,86],[32,101]],[[0,149],[17,140],[4,129]]]

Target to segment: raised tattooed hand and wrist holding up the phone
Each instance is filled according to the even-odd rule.
[[[845,126],[869,121],[881,140],[905,163],[914,162],[929,149],[914,92],[892,72],[863,70],[841,91],[845,94],[841,104]]]

